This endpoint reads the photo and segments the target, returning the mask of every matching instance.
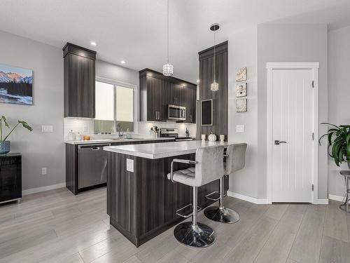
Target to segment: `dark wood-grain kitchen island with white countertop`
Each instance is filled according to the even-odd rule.
[[[107,213],[110,223],[137,247],[178,224],[176,210],[192,202],[192,188],[167,179],[172,160],[195,160],[199,147],[220,142],[162,142],[104,147],[107,151]],[[235,142],[223,142],[227,147]],[[174,170],[188,168],[174,164]],[[214,201],[205,195],[218,191],[216,180],[198,188],[198,205]],[[228,180],[225,181],[225,191]]]

